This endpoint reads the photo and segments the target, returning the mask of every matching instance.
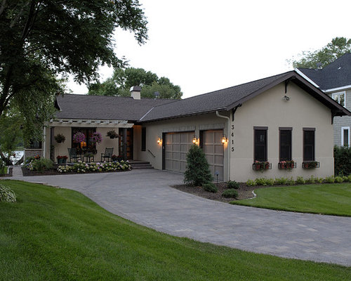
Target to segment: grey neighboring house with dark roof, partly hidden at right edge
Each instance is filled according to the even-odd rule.
[[[351,53],[346,53],[322,69],[298,68],[296,72],[351,110]],[[333,127],[334,144],[350,147],[351,117],[334,118]]]

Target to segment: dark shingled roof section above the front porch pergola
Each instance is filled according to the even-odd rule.
[[[175,100],[142,98],[124,98],[116,96],[71,95],[56,97],[60,111],[57,118],[65,119],[101,119],[137,121],[152,107]]]

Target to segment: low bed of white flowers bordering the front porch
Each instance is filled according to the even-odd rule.
[[[103,163],[86,163],[76,162],[72,166],[62,165],[58,166],[57,171],[59,173],[88,173],[94,171],[129,171],[131,170],[131,164],[128,161],[121,162],[103,162]]]

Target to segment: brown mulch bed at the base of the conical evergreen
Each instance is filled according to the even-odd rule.
[[[253,197],[253,190],[256,190],[258,188],[267,188],[267,186],[247,186],[246,183],[239,183],[240,187],[237,189],[238,192],[238,199],[237,200],[243,200],[243,199],[249,199]],[[216,184],[217,185],[217,184]],[[172,188],[176,188],[178,190],[191,193],[193,195],[197,195],[200,197],[204,197],[206,199],[210,200],[216,200],[220,202],[230,202],[234,201],[234,198],[225,198],[222,197],[222,193],[224,190],[227,189],[227,183],[218,183],[217,188],[218,192],[212,193],[205,191],[204,188],[201,186],[189,186],[189,185],[172,185]]]

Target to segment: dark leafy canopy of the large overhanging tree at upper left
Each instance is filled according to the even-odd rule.
[[[146,24],[138,0],[2,0],[0,117],[8,106],[27,119],[46,116],[46,106],[36,105],[62,93],[55,77],[73,74],[84,83],[98,77],[99,65],[121,67],[113,51],[115,28],[133,32],[143,44]]]

